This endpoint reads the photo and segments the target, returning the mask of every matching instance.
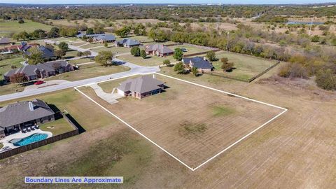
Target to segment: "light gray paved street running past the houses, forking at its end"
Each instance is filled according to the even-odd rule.
[[[36,95],[36,94],[43,94],[45,92],[53,92],[53,91],[57,91],[57,90],[64,90],[66,88],[76,87],[76,86],[79,86],[79,85],[86,85],[86,84],[89,84],[89,83],[108,80],[110,78],[119,78],[119,77],[123,77],[123,76],[130,76],[130,75],[137,74],[137,73],[153,73],[153,72],[156,72],[156,71],[160,71],[158,66],[151,66],[151,67],[138,66],[137,64],[132,64],[130,62],[125,62],[125,61],[120,60],[120,59],[114,59],[114,61],[119,62],[119,64],[123,64],[123,66],[130,67],[130,71],[113,73],[113,74],[110,74],[110,75],[107,75],[107,76],[99,76],[99,77],[95,77],[95,78],[87,78],[87,79],[77,80],[77,81],[73,81],[73,82],[69,82],[69,83],[62,83],[62,84],[59,84],[59,85],[52,85],[52,86],[48,86],[48,87],[39,88],[39,89],[36,89],[36,90],[27,90],[27,91],[17,92],[17,93],[13,93],[13,94],[5,94],[5,95],[0,96],[0,102],[7,101],[7,100],[10,100],[10,99],[18,99],[18,98],[22,98],[22,97],[29,97],[29,96]]]

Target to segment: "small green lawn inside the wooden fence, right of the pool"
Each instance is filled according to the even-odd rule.
[[[73,130],[73,127],[71,127],[71,125],[67,123],[64,118],[60,118],[50,123],[44,123],[40,125],[40,129],[43,131],[52,132],[52,136],[55,136],[65,132],[70,132]]]

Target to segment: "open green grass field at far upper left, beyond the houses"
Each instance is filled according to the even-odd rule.
[[[25,23],[19,24],[15,20],[0,20],[0,36],[9,36],[10,33],[18,33],[20,31],[31,32],[35,29],[43,29],[49,31],[52,26],[43,25],[38,22],[33,22],[31,20],[25,20]]]

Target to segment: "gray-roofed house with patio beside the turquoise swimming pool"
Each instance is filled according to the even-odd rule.
[[[0,108],[0,137],[53,120],[55,112],[39,99],[8,104]]]

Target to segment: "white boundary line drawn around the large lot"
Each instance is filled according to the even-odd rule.
[[[220,151],[219,153],[217,153],[216,155],[214,155],[213,157],[209,158],[209,160],[206,160],[205,162],[203,162],[202,164],[198,165],[197,167],[193,168],[193,167],[189,167],[188,165],[186,165],[185,162],[183,162],[182,160],[179,160],[179,158],[176,158],[174,155],[172,155],[172,153],[169,153],[168,151],[165,150],[165,148],[162,148],[161,146],[159,146],[158,144],[156,144],[154,141],[152,141],[151,139],[149,139],[148,137],[146,137],[146,135],[142,134],[141,132],[139,132],[138,130],[136,130],[134,127],[132,127],[130,124],[126,123],[124,120],[122,120],[121,118],[119,118],[118,116],[116,116],[114,113],[112,113],[111,111],[109,111],[108,109],[106,109],[104,106],[100,105],[98,102],[95,102],[94,99],[92,99],[91,97],[87,96],[87,94],[85,94],[84,92],[81,92],[80,90],[78,90],[78,87],[87,87],[89,85],[92,85],[92,84],[98,84],[98,83],[104,83],[104,82],[107,82],[107,81],[111,81],[111,80],[117,80],[117,79],[120,79],[120,78],[128,78],[128,77],[132,77],[132,76],[137,76],[137,75],[148,75],[148,74],[158,74],[160,76],[165,76],[167,78],[173,78],[175,80],[180,80],[182,82],[185,82],[185,83],[190,83],[192,85],[197,85],[197,86],[200,86],[200,87],[204,87],[204,88],[207,88],[209,90],[215,90],[217,92],[223,92],[225,94],[230,94],[232,96],[235,96],[235,97],[240,97],[240,98],[243,98],[243,99],[246,99],[246,100],[249,100],[249,101],[252,101],[252,102],[257,102],[257,103],[260,103],[260,104],[265,104],[267,106],[272,106],[274,108],[277,108],[277,109],[281,109],[283,110],[281,113],[279,113],[278,115],[274,116],[274,118],[268,120],[266,123],[260,125],[258,128],[256,128],[255,130],[253,130],[252,132],[249,132],[248,134],[246,134],[244,137],[242,137],[241,139],[235,141],[235,143],[231,144],[230,146],[226,147],[225,149],[223,149],[223,151]],[[251,136],[251,134],[255,133],[256,131],[260,130],[260,128],[264,127],[265,125],[267,125],[268,123],[272,122],[272,120],[278,118],[279,116],[281,116],[283,113],[285,113],[286,111],[288,111],[288,109],[285,109],[285,108],[282,108],[280,106],[275,106],[273,104],[268,104],[268,103],[265,103],[265,102],[261,102],[261,101],[258,101],[258,100],[255,100],[255,99],[250,99],[250,98],[247,98],[247,97],[243,97],[243,96],[240,96],[240,95],[237,95],[237,94],[233,94],[233,93],[230,93],[230,92],[225,92],[223,90],[218,90],[218,89],[215,89],[215,88],[212,88],[212,87],[207,87],[205,85],[200,85],[200,84],[197,84],[197,83],[193,83],[193,82],[190,82],[188,80],[182,80],[182,79],[179,79],[179,78],[174,78],[172,76],[167,76],[165,74],[162,74],[162,73],[137,73],[137,74],[132,74],[130,76],[123,76],[123,77],[120,77],[120,78],[113,78],[113,79],[109,79],[109,80],[103,80],[103,81],[100,81],[100,82],[96,82],[96,83],[89,83],[89,84],[85,84],[85,85],[80,85],[80,86],[77,86],[77,87],[73,87],[75,90],[77,90],[78,92],[80,92],[80,94],[83,94],[85,97],[87,97],[87,99],[90,99],[92,102],[94,102],[94,104],[97,104],[99,107],[101,107],[102,109],[104,109],[104,111],[110,113],[113,117],[117,118],[118,120],[120,120],[120,122],[124,123],[125,125],[127,125],[127,127],[130,127],[132,130],[134,130],[135,132],[137,132],[138,134],[140,134],[142,137],[144,137],[145,139],[147,139],[148,141],[150,141],[152,144],[154,144],[155,146],[158,146],[158,148],[160,148],[162,151],[164,151],[165,153],[167,153],[168,155],[172,156],[172,158],[174,158],[175,160],[179,161],[182,165],[188,167],[188,169],[190,169],[191,171],[195,171],[196,169],[199,169],[200,167],[202,167],[203,165],[207,164],[207,162],[210,162],[211,160],[214,160],[214,158],[216,158],[218,155],[221,155],[222,153],[224,153],[225,151],[228,151],[228,149],[232,148],[232,146],[235,146],[236,144],[238,144],[240,141],[246,139],[247,137]]]

